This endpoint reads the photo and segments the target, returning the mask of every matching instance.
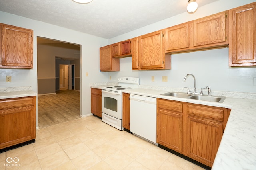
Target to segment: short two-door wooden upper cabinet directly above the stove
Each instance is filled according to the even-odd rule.
[[[111,45],[112,57],[127,57],[131,55],[131,40],[114,43]]]

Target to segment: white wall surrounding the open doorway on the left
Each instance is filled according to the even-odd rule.
[[[34,30],[34,68],[0,69],[0,87],[32,86],[37,92],[37,36],[79,44],[81,45],[81,114],[90,114],[90,82],[107,81],[107,73],[100,72],[99,48],[107,45],[108,40],[1,11],[0,23]],[[85,76],[86,72],[88,77]],[[12,76],[12,82],[6,82],[6,76]]]

